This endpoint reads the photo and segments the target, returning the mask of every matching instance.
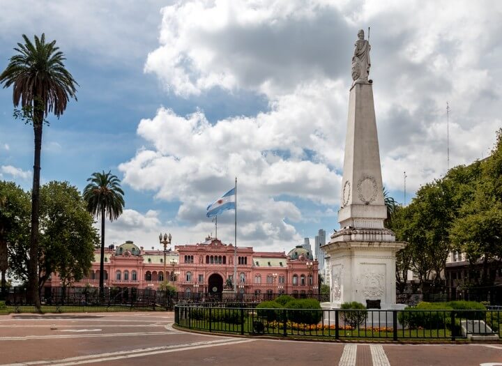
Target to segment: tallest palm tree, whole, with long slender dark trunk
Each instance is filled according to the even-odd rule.
[[[40,310],[38,291],[38,209],[40,206],[40,153],[42,128],[45,117],[54,112],[58,118],[66,110],[70,98],[76,97],[78,86],[66,70],[63,52],[56,47],[56,40],[45,43],[45,34],[34,36],[31,43],[24,34],[24,45],[17,43],[17,52],[0,75],[3,88],[13,86],[13,102],[21,103],[23,118],[33,125],[35,152],[33,162],[33,188],[31,190],[31,235],[29,250],[28,300]]]

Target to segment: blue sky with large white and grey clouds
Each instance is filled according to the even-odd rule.
[[[66,54],[78,101],[50,117],[42,181],[121,178],[107,245],[196,243],[238,179],[238,245],[289,250],[338,227],[351,54],[371,27],[383,184],[407,201],[485,157],[501,128],[500,1],[3,1],[0,69],[26,33]],[[0,89],[0,179],[31,187],[33,130]],[[234,242],[234,216],[218,220]]]

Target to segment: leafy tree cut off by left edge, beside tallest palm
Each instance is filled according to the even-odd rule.
[[[0,181],[0,270],[3,296],[6,295],[9,248],[16,243],[29,241],[29,214],[29,194],[13,182]]]

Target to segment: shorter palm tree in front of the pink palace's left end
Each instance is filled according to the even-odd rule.
[[[101,218],[101,257],[100,257],[100,296],[104,294],[105,272],[105,217],[110,221],[119,218],[123,211],[124,199],[120,180],[111,171],[105,173],[93,173],[87,179],[89,183],[84,188],[84,201],[87,203],[87,211],[95,218]]]

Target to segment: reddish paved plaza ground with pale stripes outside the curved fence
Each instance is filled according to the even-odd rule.
[[[0,317],[0,365],[502,365],[502,344],[350,344],[200,335],[172,312]]]

